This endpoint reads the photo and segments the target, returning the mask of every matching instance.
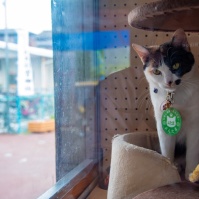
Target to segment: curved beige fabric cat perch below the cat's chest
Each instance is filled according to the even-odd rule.
[[[159,154],[156,132],[118,135],[112,141],[108,199],[130,199],[181,181],[177,168]]]

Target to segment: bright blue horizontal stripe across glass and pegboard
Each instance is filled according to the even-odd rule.
[[[53,50],[102,50],[130,44],[128,30],[53,34]]]

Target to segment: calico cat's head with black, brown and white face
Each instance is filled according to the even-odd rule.
[[[133,48],[144,65],[148,82],[166,91],[175,91],[194,64],[193,54],[182,29],[176,30],[170,42],[160,46],[133,44]]]

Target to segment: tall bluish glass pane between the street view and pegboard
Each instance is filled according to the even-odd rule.
[[[95,88],[100,74],[96,74],[93,1],[53,1],[52,10],[60,179],[96,155]]]

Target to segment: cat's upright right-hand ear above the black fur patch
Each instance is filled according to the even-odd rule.
[[[183,47],[186,51],[190,52],[187,36],[183,29],[178,29],[175,31],[171,43],[175,47]]]

